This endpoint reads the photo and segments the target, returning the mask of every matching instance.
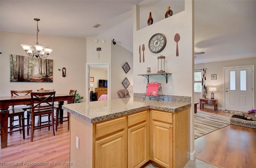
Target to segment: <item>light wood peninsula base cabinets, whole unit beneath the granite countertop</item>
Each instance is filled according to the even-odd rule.
[[[160,167],[184,167],[189,160],[189,112],[148,109],[98,123],[71,115],[70,167],[139,168],[149,160]]]

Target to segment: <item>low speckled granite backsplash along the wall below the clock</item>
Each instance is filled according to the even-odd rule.
[[[133,93],[133,97],[143,98],[144,96],[145,96],[144,93]],[[146,99],[149,99],[149,97],[146,96]],[[164,95],[164,101],[180,101],[180,102],[191,103],[191,97],[188,97],[188,96]]]

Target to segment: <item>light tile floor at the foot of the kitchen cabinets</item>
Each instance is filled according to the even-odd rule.
[[[142,166],[143,168],[158,168],[156,165],[149,163],[145,167]],[[184,168],[218,168],[217,166],[214,166],[212,164],[208,164],[206,162],[203,162],[202,160],[189,160],[188,163]]]

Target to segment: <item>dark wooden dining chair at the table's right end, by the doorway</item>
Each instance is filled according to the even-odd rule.
[[[72,103],[74,103],[75,96],[76,96],[76,90],[70,90],[69,94],[74,95],[74,99],[72,102]],[[54,109],[56,110],[55,130],[57,131],[59,123],[65,122],[65,121],[68,121],[68,130],[69,130],[69,112],[67,112],[67,117],[63,117],[63,114],[62,114],[62,117],[60,117],[60,111],[62,110],[61,105],[54,106]],[[66,119],[66,120],[63,120],[63,119]]]

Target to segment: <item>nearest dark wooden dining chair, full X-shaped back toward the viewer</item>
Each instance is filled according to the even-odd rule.
[[[52,127],[52,134],[54,133],[54,92],[36,93],[31,92],[31,109],[28,110],[27,131],[31,129],[30,142],[33,142],[34,130]],[[45,124],[35,126],[35,117],[48,115],[48,122]]]

